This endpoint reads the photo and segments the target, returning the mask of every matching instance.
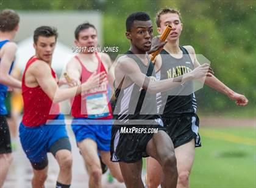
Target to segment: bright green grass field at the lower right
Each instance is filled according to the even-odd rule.
[[[254,146],[204,136],[204,132],[249,138]],[[223,136],[224,135],[224,136]],[[191,188],[256,187],[256,146],[254,128],[202,129],[202,147],[196,149]],[[227,137],[228,137],[227,136]]]

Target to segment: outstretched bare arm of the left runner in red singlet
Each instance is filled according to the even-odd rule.
[[[94,74],[84,84],[68,89],[59,89],[57,82],[51,75],[49,65],[40,60],[34,62],[34,64],[35,65],[32,67],[31,73],[35,79],[37,79],[38,85],[41,87],[41,89],[43,89],[46,95],[48,95],[53,102],[60,102],[65,99],[72,98],[85,90],[96,87],[98,86],[99,82],[101,82],[99,80],[102,80],[105,76],[101,74]]]

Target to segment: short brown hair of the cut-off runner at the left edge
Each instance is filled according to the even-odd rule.
[[[14,10],[2,10],[0,13],[1,32],[11,32],[20,22],[20,16]]]

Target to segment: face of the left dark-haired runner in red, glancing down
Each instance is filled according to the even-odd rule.
[[[35,52],[38,58],[45,62],[51,62],[55,44],[55,36],[39,36],[37,42],[34,43]]]

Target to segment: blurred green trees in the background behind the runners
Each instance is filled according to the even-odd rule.
[[[124,33],[130,13],[144,11],[155,21],[162,7],[180,10],[183,23],[181,45],[192,45],[196,53],[210,60],[217,76],[231,89],[243,93],[249,105],[243,109],[209,87],[196,93],[199,112],[255,116],[256,98],[256,1],[0,1],[1,9],[97,11],[102,14],[104,46],[129,49]],[[68,25],[67,25],[68,27]],[[156,25],[154,24],[154,33]],[[112,59],[118,53],[110,54]],[[229,111],[229,113],[228,113]]]

